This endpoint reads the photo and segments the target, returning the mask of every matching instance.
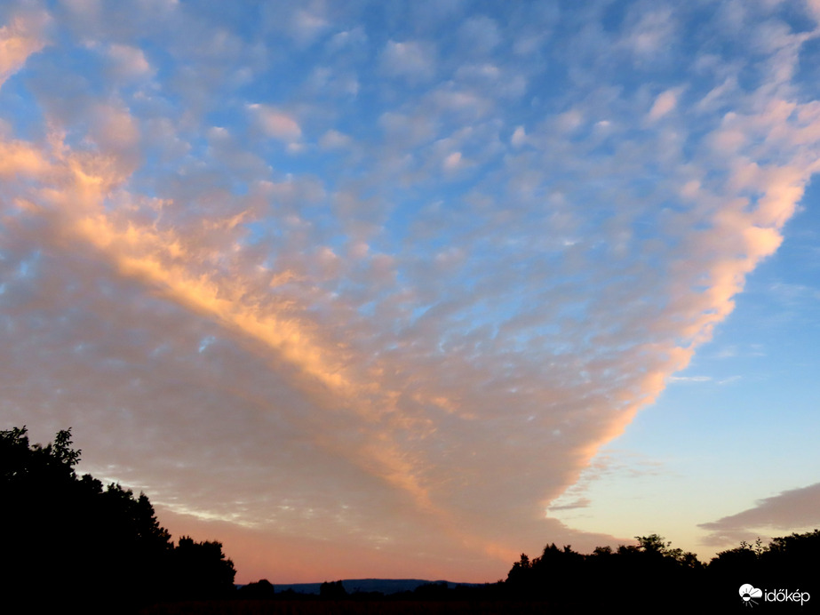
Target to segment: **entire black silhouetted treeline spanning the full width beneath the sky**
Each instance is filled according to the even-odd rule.
[[[532,559],[522,554],[506,579],[485,585],[431,583],[383,595],[348,593],[342,581],[325,581],[316,596],[277,592],[262,579],[237,590],[234,564],[219,542],[182,537],[175,545],[145,494],[134,496],[115,483],[104,488],[91,475],[76,475],[79,456],[70,430],[46,446],[29,444],[25,427],[0,431],[2,583],[4,596],[18,596],[25,611],[76,605],[84,613],[127,613],[163,603],[146,612],[199,612],[192,606],[196,601],[211,601],[208,612],[225,613],[251,612],[237,611],[242,603],[255,604],[252,612],[270,613],[281,611],[277,604],[289,604],[292,613],[324,612],[313,606],[294,610],[294,603],[333,609],[347,604],[342,611],[353,613],[361,611],[354,604],[375,602],[386,612],[420,603],[429,612],[441,611],[434,603],[448,603],[450,613],[575,612],[613,604],[637,612],[699,612],[749,605],[739,594],[745,584],[808,592],[813,606],[820,603],[817,530],[776,538],[768,546],[760,539],[741,543],[709,563],[651,534],[636,537],[637,545],[597,547],[591,554],[549,544]],[[752,604],[764,602],[759,595],[747,597]],[[212,602],[217,599],[224,601],[219,611]]]

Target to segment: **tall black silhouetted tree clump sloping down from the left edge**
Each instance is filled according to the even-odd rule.
[[[0,431],[3,595],[19,612],[120,613],[233,594],[219,542],[174,545],[145,494],[76,475],[79,459],[70,430],[47,446],[30,445],[25,427]]]

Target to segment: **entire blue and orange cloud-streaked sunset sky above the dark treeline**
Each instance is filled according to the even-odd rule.
[[[8,0],[0,428],[237,582],[812,529],[818,84],[818,0]]]

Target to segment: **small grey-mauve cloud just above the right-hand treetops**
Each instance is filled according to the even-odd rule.
[[[709,531],[705,544],[722,547],[753,540],[760,531],[798,531],[820,524],[820,483],[759,499],[755,506],[698,527]]]

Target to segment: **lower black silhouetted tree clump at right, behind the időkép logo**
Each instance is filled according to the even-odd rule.
[[[510,597],[544,600],[559,605],[597,607],[620,603],[649,612],[664,610],[706,611],[736,609],[763,603],[762,596],[740,595],[746,584],[761,590],[808,591],[817,587],[820,531],[773,539],[764,546],[742,542],[722,551],[709,563],[657,534],[636,537],[637,545],[617,549],[597,547],[582,555],[571,547],[547,545],[533,560],[521,555],[505,581]],[[815,599],[820,595],[815,591]],[[751,604],[749,602],[752,602]],[[774,605],[769,605],[772,608]],[[781,607],[800,607],[780,603]]]

